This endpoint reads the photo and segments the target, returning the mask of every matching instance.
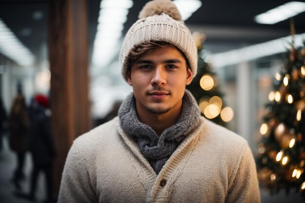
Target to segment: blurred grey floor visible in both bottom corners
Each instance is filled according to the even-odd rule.
[[[31,203],[25,199],[17,198],[14,195],[14,185],[10,182],[13,171],[16,167],[15,154],[9,150],[6,137],[3,139],[3,147],[0,151],[0,203]],[[26,155],[24,172],[26,179],[22,182],[22,191],[29,192],[29,178],[32,169],[31,155]],[[37,203],[42,202],[45,197],[45,179],[42,174],[38,178],[38,187],[36,191]],[[261,190],[262,203],[304,203],[298,194],[290,194],[287,196],[284,192],[270,196],[264,190]]]

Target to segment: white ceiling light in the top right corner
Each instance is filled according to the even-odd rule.
[[[290,1],[254,17],[261,24],[275,24],[305,11],[305,2]]]

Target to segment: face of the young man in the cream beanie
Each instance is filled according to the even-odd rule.
[[[133,86],[138,114],[180,111],[185,86],[192,80],[186,60],[172,46],[166,46],[140,57],[128,73]]]

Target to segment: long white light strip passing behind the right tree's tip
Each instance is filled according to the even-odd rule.
[[[303,40],[305,39],[305,33],[295,35],[294,37],[295,47],[301,47],[303,45]],[[289,41],[291,41],[291,36],[274,39],[265,43],[255,44],[241,49],[214,54],[212,55],[212,64],[214,68],[221,68],[264,56],[284,53],[290,48]]]

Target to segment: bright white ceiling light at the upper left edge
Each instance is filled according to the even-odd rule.
[[[35,57],[0,18],[0,53],[20,66],[31,66]]]

